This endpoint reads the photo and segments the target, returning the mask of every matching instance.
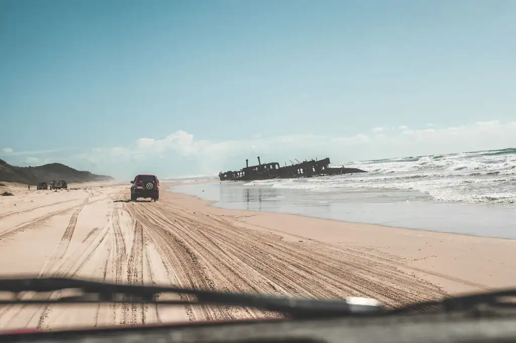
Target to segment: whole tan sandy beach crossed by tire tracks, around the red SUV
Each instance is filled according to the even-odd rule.
[[[0,273],[276,295],[366,296],[395,307],[516,284],[516,241],[228,210],[190,195],[130,202],[129,185],[11,185]],[[258,317],[234,308],[3,306],[0,330]]]

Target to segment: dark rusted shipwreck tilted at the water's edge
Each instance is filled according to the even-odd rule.
[[[297,160],[296,160],[297,161]],[[292,165],[280,167],[278,162],[264,163],[249,166],[249,160],[246,160],[246,167],[237,171],[226,171],[219,173],[220,181],[239,181],[239,180],[267,180],[267,179],[290,179],[324,175],[340,175],[350,173],[366,173],[365,170],[358,168],[330,167],[330,159],[327,157],[323,160],[303,161]]]

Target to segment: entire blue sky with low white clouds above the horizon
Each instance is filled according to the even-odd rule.
[[[0,158],[132,178],[516,147],[516,2],[0,0]]]

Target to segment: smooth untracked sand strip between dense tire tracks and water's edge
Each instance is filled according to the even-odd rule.
[[[330,244],[366,255],[382,256],[451,294],[511,287],[516,284],[516,240],[460,233],[396,228],[345,222],[298,214],[256,212],[214,207],[213,201],[167,191],[176,200],[213,215],[235,219],[237,224],[295,240]],[[190,205],[190,206],[191,206]],[[315,228],[315,230],[311,229]],[[509,267],[509,265],[512,265]]]

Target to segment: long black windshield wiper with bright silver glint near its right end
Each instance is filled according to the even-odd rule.
[[[60,291],[58,297],[48,293]],[[230,293],[201,289],[164,286],[142,286],[104,283],[66,278],[0,279],[0,292],[10,292],[10,299],[0,298],[0,304],[62,304],[62,303],[153,303],[166,305],[219,305],[254,307],[279,312],[292,318],[321,318],[379,315],[385,307],[368,298],[318,300],[289,298],[247,293]],[[28,298],[22,292],[36,293]],[[47,293],[39,298],[39,293]],[[161,295],[195,296],[196,300],[166,300]],[[28,298],[28,299],[27,299]]]

